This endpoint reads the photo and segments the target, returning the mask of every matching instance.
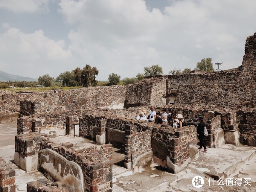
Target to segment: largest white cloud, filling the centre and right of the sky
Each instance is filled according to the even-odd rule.
[[[194,69],[202,58],[211,57],[214,61],[218,54],[229,52],[230,46],[239,47],[245,41],[246,37],[238,40],[236,26],[229,24],[240,17],[241,14],[234,14],[234,9],[238,11],[241,2],[236,1],[232,6],[229,3],[172,1],[161,12],[149,11],[142,0],[61,0],[59,12],[68,23],[79,23],[79,28],[69,34],[69,49],[98,67],[109,62],[109,72],[104,70],[104,73],[125,63],[131,69],[142,65],[142,70],[143,66],[160,64],[169,71],[175,67],[171,63]],[[253,1],[250,3],[254,6]],[[250,6],[243,4],[243,11]],[[226,14],[230,7],[233,10]],[[251,12],[250,17],[253,15]],[[242,55],[241,48],[241,58]],[[232,59],[233,54],[226,56]],[[241,59],[236,66],[239,62]]]

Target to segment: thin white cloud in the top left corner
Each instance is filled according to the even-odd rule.
[[[47,12],[49,2],[54,0],[0,0],[0,8],[8,9],[15,13]]]

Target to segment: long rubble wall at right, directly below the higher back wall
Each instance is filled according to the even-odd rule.
[[[205,84],[180,85],[175,104],[216,105],[226,108],[256,106],[256,85]]]

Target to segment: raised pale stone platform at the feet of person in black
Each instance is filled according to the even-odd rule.
[[[218,148],[200,150],[199,157],[187,166],[192,173],[201,177],[227,178],[256,156],[256,147],[225,144]]]

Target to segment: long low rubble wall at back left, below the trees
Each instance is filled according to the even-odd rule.
[[[124,103],[126,85],[79,88],[69,91],[49,92],[1,91],[0,115],[20,113],[29,115],[31,105],[34,113],[108,107],[117,101]],[[25,101],[26,100],[26,101]],[[20,107],[20,104],[22,105]]]

